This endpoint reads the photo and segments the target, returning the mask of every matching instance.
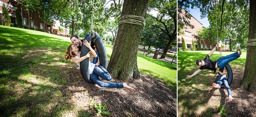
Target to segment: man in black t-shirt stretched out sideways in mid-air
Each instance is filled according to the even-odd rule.
[[[219,46],[219,42],[217,43],[216,46]],[[237,52],[233,53],[233,54],[230,54],[230,55],[227,55],[227,56],[223,56],[223,57],[220,57],[217,61],[212,61],[210,60],[210,56],[213,54],[213,52],[215,51],[215,49],[217,47],[214,47],[211,52],[205,57],[205,59],[200,60],[200,59],[197,59],[196,60],[196,64],[198,66],[201,66],[197,71],[195,71],[191,76],[188,76],[187,75],[187,79],[195,76],[196,74],[198,74],[200,71],[202,71],[203,69],[209,69],[209,70],[212,70],[214,71],[214,73],[216,72],[216,68],[223,68],[227,63],[229,63],[230,61],[234,61],[236,60],[237,58],[240,57],[240,55],[242,54],[242,51],[241,51],[241,48],[238,46],[238,49]],[[223,59],[223,60],[222,60]]]

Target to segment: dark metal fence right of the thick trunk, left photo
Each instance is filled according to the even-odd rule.
[[[143,50],[138,50],[138,54],[142,54],[142,55],[146,55],[146,56],[150,56],[153,58],[153,56],[155,55],[155,52],[148,54],[147,55],[147,50],[143,51]],[[174,65],[177,65],[177,55],[176,54],[166,54],[164,56],[162,56],[162,53],[158,53],[158,55],[156,56],[157,59],[161,60],[161,61],[165,61]]]

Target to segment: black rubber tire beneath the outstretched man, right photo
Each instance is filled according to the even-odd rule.
[[[231,83],[232,83],[232,81],[233,81],[233,71],[232,71],[232,69],[231,69],[231,67],[230,67],[229,64],[225,65],[224,67],[226,68],[226,72],[227,72],[227,76],[228,76],[228,77],[227,77],[227,82],[228,82],[228,84],[229,84],[229,86],[230,86]],[[220,70],[221,72],[223,72],[223,69],[224,69],[224,68],[220,68],[219,70]],[[217,81],[219,81],[220,78],[221,78],[221,74],[220,74],[220,73],[218,73],[218,74],[219,74],[219,76],[216,77],[216,83],[217,83]],[[222,84],[222,85],[220,85],[220,88],[226,88],[226,86],[225,86],[224,84]]]

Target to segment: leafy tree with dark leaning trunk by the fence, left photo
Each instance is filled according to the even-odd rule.
[[[176,0],[151,0],[149,9],[157,11],[157,16],[147,14],[153,18],[156,23],[151,24],[152,26],[159,28],[164,32],[169,41],[164,48],[164,52],[161,58],[165,58],[165,55],[170,47],[171,43],[175,40],[177,35],[177,1]],[[159,25],[160,24],[160,25]]]

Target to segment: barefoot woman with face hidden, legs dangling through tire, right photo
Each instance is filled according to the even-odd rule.
[[[226,72],[225,70],[223,70],[223,72],[221,72],[220,70],[218,70],[218,72],[222,75],[220,80],[217,81],[217,84],[213,83],[212,86],[214,88],[220,88],[220,85],[223,83],[225,86],[226,86],[226,89],[227,89],[227,92],[229,94],[229,100],[227,102],[230,102],[232,101],[234,98],[232,97],[232,94],[231,94],[231,90],[230,90],[230,87],[229,87],[229,84],[227,82],[227,78],[226,78]],[[219,76],[219,74],[217,74],[216,76]]]

